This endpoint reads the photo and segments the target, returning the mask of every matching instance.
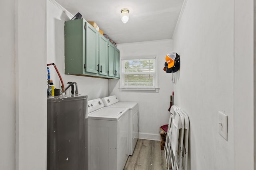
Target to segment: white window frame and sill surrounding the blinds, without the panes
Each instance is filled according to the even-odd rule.
[[[134,87],[126,87],[124,86],[124,61],[125,60],[138,60],[138,59],[155,59],[154,69],[155,69],[155,77],[154,77],[154,87],[152,86],[134,86]],[[158,55],[150,55],[143,57],[124,57],[121,59],[121,69],[120,69],[120,92],[148,92],[148,93],[158,93]]]

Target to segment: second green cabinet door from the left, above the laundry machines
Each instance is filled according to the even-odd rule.
[[[99,69],[100,75],[108,75],[108,39],[99,34]]]

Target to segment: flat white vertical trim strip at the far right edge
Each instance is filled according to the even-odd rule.
[[[234,0],[234,169],[254,169],[254,1]],[[241,67],[244,65],[244,67]],[[242,69],[241,69],[242,68]],[[246,131],[246,132],[245,132]],[[244,147],[246,146],[246,147]]]

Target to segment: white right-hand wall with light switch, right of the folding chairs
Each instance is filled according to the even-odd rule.
[[[174,34],[181,57],[175,101],[190,118],[191,170],[253,169],[249,6],[242,0],[188,0]],[[228,115],[228,141],[218,134],[218,111]]]

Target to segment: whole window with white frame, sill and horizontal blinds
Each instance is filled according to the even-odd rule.
[[[158,92],[157,56],[123,59],[120,92]]]

